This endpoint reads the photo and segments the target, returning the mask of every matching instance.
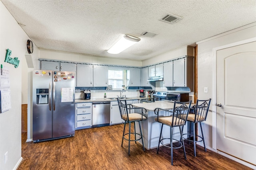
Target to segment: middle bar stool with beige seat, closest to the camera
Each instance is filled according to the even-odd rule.
[[[172,149],[178,149],[178,148],[181,148],[183,146],[184,156],[185,156],[185,159],[187,159],[186,158],[186,151],[185,151],[185,147],[184,147],[184,141],[183,141],[183,138],[182,138],[182,129],[181,129],[181,127],[183,127],[186,124],[188,113],[189,113],[190,106],[191,106],[191,102],[192,102],[191,100],[190,100],[190,102],[176,102],[176,101],[174,101],[173,109],[167,110],[167,109],[156,108],[154,110],[155,114],[157,115],[157,118],[155,118],[155,120],[162,124],[161,131],[160,131],[160,136],[159,136],[159,141],[158,141],[157,152],[156,152],[157,154],[158,154],[158,151],[159,151],[160,143],[164,147],[170,148],[171,158],[173,158]],[[170,115],[169,116],[159,116],[160,111],[166,111],[167,113],[170,113]],[[170,138],[161,139],[163,125],[167,125],[167,126],[170,127]],[[179,129],[180,129],[180,139],[179,140],[172,139],[173,127],[179,127]],[[165,144],[162,143],[162,141],[164,139],[170,139],[170,147],[168,145],[165,145]],[[178,147],[173,147],[173,143],[172,143],[173,140],[178,142]],[[172,159],[172,165],[173,165],[173,159]]]

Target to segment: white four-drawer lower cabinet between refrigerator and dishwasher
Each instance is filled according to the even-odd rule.
[[[76,129],[92,127],[92,102],[76,104]]]

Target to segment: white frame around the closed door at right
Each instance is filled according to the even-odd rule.
[[[212,149],[216,150],[219,154],[222,154],[223,156],[226,156],[236,162],[239,162],[240,164],[244,164],[245,166],[248,166],[250,168],[256,168],[254,165],[244,162],[243,160],[240,160],[238,158],[235,158],[233,156],[230,156],[229,154],[226,154],[224,152],[221,152],[217,150],[217,106],[216,106],[216,100],[217,100],[217,77],[216,77],[216,71],[217,71],[217,51],[226,49],[229,47],[234,47],[246,43],[251,43],[253,41],[256,41],[256,37],[245,39],[242,41],[238,41],[235,43],[230,43],[226,45],[222,45],[220,47],[213,48],[213,84],[212,84]]]

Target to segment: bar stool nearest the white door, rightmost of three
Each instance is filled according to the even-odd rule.
[[[206,146],[205,146],[205,142],[204,142],[204,133],[203,133],[201,122],[206,120],[211,100],[212,99],[196,100],[196,105],[194,105],[190,109],[194,113],[189,113],[188,114],[188,120],[187,121],[190,122],[189,123],[190,124],[189,133],[183,134],[183,138],[184,138],[184,135],[188,135],[188,138],[184,138],[184,139],[188,140],[189,142],[194,142],[194,156],[196,156],[196,143],[197,142],[202,142],[203,141],[204,150],[206,151]],[[196,125],[196,123],[200,124],[200,129],[201,129],[202,136],[195,135],[195,125]],[[191,125],[193,125],[193,133],[191,133]],[[182,131],[183,131],[183,129],[182,129]],[[190,140],[191,135],[193,135],[193,140]],[[196,141],[196,136],[198,138],[200,138],[199,141]]]

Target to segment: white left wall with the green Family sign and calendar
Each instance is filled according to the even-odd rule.
[[[16,20],[0,2],[0,64],[8,67],[10,74],[11,109],[0,113],[0,169],[16,169],[21,157],[21,104],[22,79],[27,79],[25,54],[28,54],[26,42],[30,39]],[[11,57],[18,57],[18,68],[4,62],[6,49],[12,51]],[[36,49],[36,47],[35,47]],[[36,50],[35,50],[36,51]],[[38,57],[34,55],[35,57]],[[22,73],[25,72],[25,75]],[[25,97],[26,98],[26,97]],[[4,154],[8,152],[8,161],[4,164]]]

